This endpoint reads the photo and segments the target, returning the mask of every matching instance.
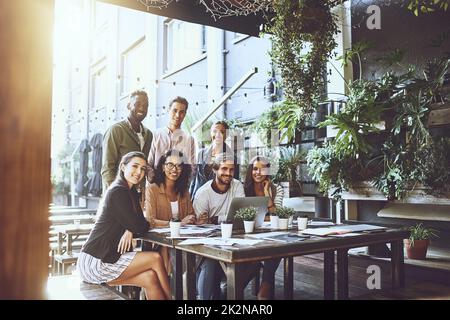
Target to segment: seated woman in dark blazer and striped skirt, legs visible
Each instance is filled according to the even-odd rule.
[[[81,249],[77,269],[86,282],[138,286],[145,289],[147,299],[165,300],[170,299],[170,286],[161,255],[124,250],[127,230],[143,234],[150,227],[136,191],[146,169],[142,152],[122,157],[117,177],[106,191],[95,226]]]

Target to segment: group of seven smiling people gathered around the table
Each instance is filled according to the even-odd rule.
[[[282,205],[283,189],[271,181],[270,161],[261,156],[249,161],[244,183],[235,179],[237,162],[225,143],[225,121],[212,125],[211,145],[197,153],[194,139],[181,129],[186,99],[171,101],[169,123],[155,134],[142,124],[148,111],[144,91],[133,92],[127,108],[127,119],[104,135],[104,192],[77,270],[89,283],[138,286],[147,299],[170,299],[169,250],[136,251],[133,235],[167,227],[171,219],[182,225],[220,223],[234,197],[269,197],[268,212],[273,212]],[[279,263],[280,259],[264,261],[259,299],[270,298]],[[220,299],[222,277],[217,261],[203,259],[197,270],[197,297]]]

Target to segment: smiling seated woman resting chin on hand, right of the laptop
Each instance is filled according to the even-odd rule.
[[[283,205],[284,191],[280,185],[271,181],[270,161],[262,156],[256,156],[250,160],[245,176],[244,191],[246,197],[269,197],[268,211],[275,212],[275,209]],[[275,272],[281,259],[271,259],[264,261],[263,276],[258,292],[258,299],[266,300],[272,298],[271,284],[274,283]]]

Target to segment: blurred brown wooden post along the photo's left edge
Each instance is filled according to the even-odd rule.
[[[53,12],[0,1],[0,299],[45,298]]]

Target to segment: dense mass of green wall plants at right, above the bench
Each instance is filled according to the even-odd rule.
[[[349,86],[347,104],[320,126],[337,136],[307,156],[308,171],[319,191],[339,193],[370,180],[388,199],[404,198],[422,184],[440,195],[450,190],[449,138],[433,138],[428,128],[431,105],[448,100],[443,89],[450,60],[433,60],[418,78],[414,68],[376,81]],[[377,124],[384,122],[381,131]]]

